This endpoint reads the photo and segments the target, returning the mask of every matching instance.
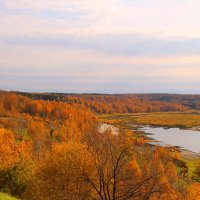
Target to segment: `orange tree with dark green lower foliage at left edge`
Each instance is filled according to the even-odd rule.
[[[32,176],[29,142],[15,143],[14,134],[0,129],[0,190],[20,196]]]

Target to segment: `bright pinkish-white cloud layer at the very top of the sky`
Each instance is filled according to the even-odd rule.
[[[3,0],[12,31],[25,33],[71,29],[95,35],[138,31],[155,36],[196,38],[200,35],[197,0]],[[12,15],[12,16],[10,16]],[[19,21],[15,21],[15,18]],[[13,23],[12,23],[13,21]],[[34,26],[32,21],[34,21]],[[1,23],[1,22],[0,22]],[[70,30],[69,30],[70,29]]]

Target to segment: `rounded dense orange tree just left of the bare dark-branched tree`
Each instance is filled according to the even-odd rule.
[[[82,172],[90,170],[84,145],[76,142],[55,144],[38,166],[35,181],[26,193],[29,200],[89,199],[90,188]],[[90,171],[91,172],[91,171]],[[34,195],[33,195],[34,194]]]

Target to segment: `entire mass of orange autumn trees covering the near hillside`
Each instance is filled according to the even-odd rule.
[[[131,131],[99,133],[85,106],[2,93],[0,116],[2,192],[27,200],[198,197],[198,184],[181,182],[173,153]]]

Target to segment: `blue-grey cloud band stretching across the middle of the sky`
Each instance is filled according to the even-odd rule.
[[[3,37],[2,37],[3,38]],[[200,55],[200,38],[168,39],[132,34],[112,34],[91,37],[74,35],[4,37],[9,45],[92,50],[110,55],[126,56],[181,56]]]

